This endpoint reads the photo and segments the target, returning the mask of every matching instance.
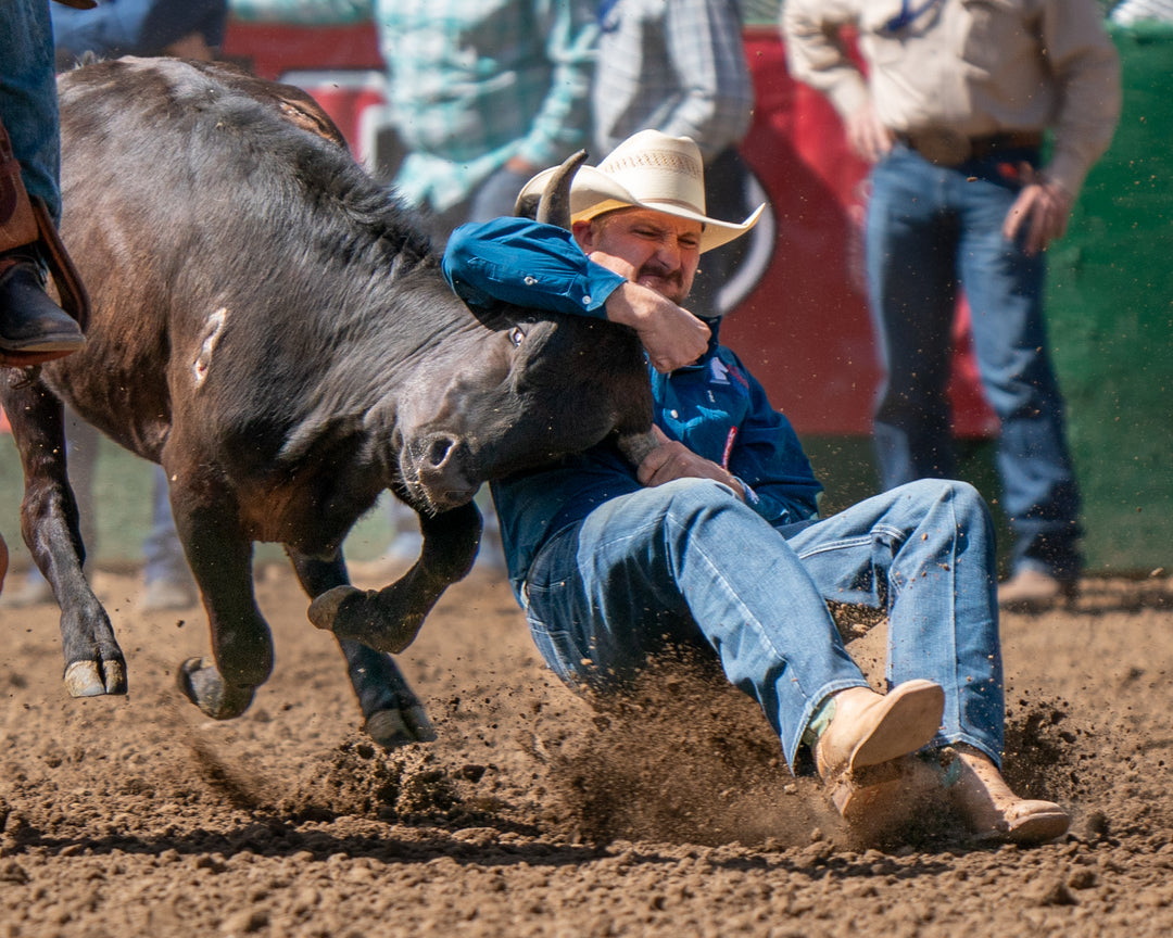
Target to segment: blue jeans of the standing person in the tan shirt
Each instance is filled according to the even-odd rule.
[[[982,383],[1002,422],[997,467],[1015,533],[1011,565],[1060,579],[1082,560],[1079,491],[1043,318],[1045,265],[1002,237],[1033,150],[936,166],[897,144],[872,172],[868,290],[887,379],[875,410],[884,488],[955,475],[945,386],[958,287]]]

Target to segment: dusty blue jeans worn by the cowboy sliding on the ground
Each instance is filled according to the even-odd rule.
[[[889,685],[945,691],[937,742],[1002,756],[1004,701],[985,503],[925,480],[775,530],[708,480],[623,495],[538,551],[523,590],[547,664],[611,688],[667,647],[708,647],[754,698],[793,766],[832,693],[867,685],[825,600],[888,613]]]

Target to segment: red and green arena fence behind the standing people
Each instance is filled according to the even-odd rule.
[[[1067,236],[1050,251],[1047,318],[1084,491],[1091,572],[1173,569],[1173,27],[1113,30],[1124,64],[1124,116],[1092,171]],[[230,27],[226,49],[267,77],[296,73],[335,116],[352,147],[377,158],[371,109],[382,106],[367,26],[320,32]],[[846,150],[838,118],[786,74],[778,33],[748,27],[758,107],[745,144],[771,204],[757,285],[723,338],[743,354],[794,421],[827,485],[826,511],[870,494],[870,401],[879,378],[860,288],[855,240],[866,168]],[[378,111],[374,111],[378,114]],[[964,317],[964,307],[960,310]],[[958,339],[964,344],[964,321]],[[997,501],[996,421],[972,363],[956,358],[952,399],[961,475]],[[103,441],[96,556],[135,563],[149,528],[149,467]],[[20,565],[20,467],[0,439],[0,530]],[[386,522],[364,522],[348,552],[381,548]],[[262,556],[273,555],[266,548]]]

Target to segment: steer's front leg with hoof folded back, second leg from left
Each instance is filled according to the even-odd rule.
[[[212,643],[212,658],[189,658],[176,682],[209,716],[229,720],[249,708],[273,669],[272,635],[252,587],[252,541],[240,530],[236,503],[223,483],[198,471],[167,469],[171,514],[199,585]]]

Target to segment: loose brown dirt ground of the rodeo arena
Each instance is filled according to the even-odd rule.
[[[439,741],[382,753],[291,575],[259,580],[277,669],[225,723],[172,691],[202,612],[137,612],[137,578],[96,576],[126,698],[67,698],[56,610],[0,610],[0,938],[1173,931],[1167,573],[1004,618],[1006,774],[1076,815],[1036,849],[930,807],[908,843],[855,843],[748,700],[674,674],[594,711],[479,573],[401,658]]]

